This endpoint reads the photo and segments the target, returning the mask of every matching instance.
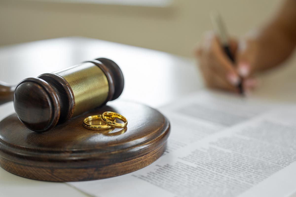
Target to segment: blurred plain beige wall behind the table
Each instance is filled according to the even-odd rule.
[[[211,29],[211,10],[221,12],[232,35],[241,36],[272,16],[279,3],[280,0],[174,0],[168,6],[157,7],[83,0],[0,0],[0,45],[85,36],[192,56],[203,32]]]

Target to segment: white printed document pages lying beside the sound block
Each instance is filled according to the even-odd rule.
[[[201,91],[160,111],[171,123],[163,156],[126,175],[69,184],[99,197],[273,197],[296,191],[296,106]]]

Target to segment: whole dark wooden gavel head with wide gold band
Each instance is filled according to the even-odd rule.
[[[26,127],[44,132],[115,100],[123,87],[119,66],[110,59],[98,58],[22,80],[15,89],[13,104]]]

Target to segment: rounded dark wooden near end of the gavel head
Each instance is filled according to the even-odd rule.
[[[50,130],[59,121],[59,97],[43,79],[22,80],[15,88],[13,106],[20,121],[32,131]]]

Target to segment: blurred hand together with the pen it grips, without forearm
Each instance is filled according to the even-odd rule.
[[[257,82],[251,77],[248,59],[243,59],[254,55],[245,55],[246,48],[239,48],[236,39],[228,38],[218,15],[212,14],[211,19],[215,32],[208,32],[196,51],[205,82],[211,88],[248,93]]]

